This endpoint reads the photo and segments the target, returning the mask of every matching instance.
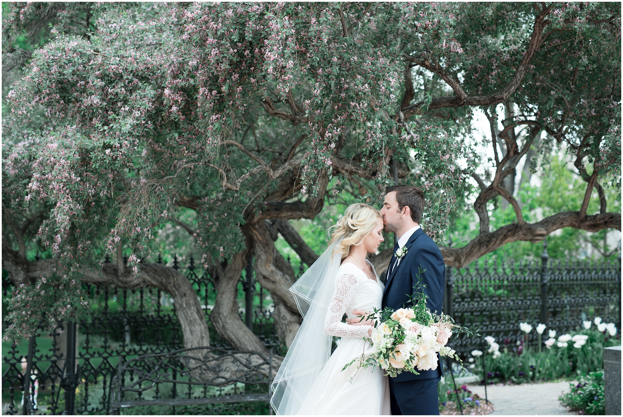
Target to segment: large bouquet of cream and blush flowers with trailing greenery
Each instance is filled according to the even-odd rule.
[[[424,271],[420,271],[422,273]],[[419,375],[417,371],[437,369],[437,354],[453,357],[461,364],[462,361],[454,349],[446,346],[453,330],[478,335],[477,332],[454,324],[447,314],[433,314],[426,308],[426,294],[417,291],[421,279],[416,284],[416,291],[411,296],[411,308],[393,311],[389,307],[374,310],[363,319],[372,319],[374,330],[366,340],[372,344],[371,349],[364,350],[360,357],[347,363],[345,370],[354,362],[359,361],[359,368],[380,366],[386,376],[396,377],[403,371]],[[354,377],[354,374],[352,377]],[[351,380],[352,380],[351,377]]]

